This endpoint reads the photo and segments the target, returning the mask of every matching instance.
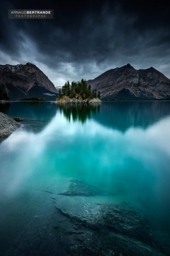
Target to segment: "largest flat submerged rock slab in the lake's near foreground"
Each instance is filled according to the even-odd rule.
[[[67,200],[66,200],[67,201]],[[77,202],[77,203],[76,203]],[[56,208],[72,221],[92,230],[107,230],[152,245],[152,234],[145,215],[123,204],[95,204],[78,200]]]

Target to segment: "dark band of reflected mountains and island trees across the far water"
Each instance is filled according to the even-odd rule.
[[[0,104],[0,111],[24,118],[28,130],[41,131],[56,115],[57,109],[70,121],[86,122],[93,118],[101,125],[126,131],[130,127],[146,129],[170,115],[170,101],[118,101],[102,104],[50,104],[49,102],[12,102]]]

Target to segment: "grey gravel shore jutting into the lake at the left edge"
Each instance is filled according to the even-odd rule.
[[[19,120],[18,120],[19,121]],[[0,137],[6,137],[20,127],[20,123],[15,121],[15,118],[0,112]]]

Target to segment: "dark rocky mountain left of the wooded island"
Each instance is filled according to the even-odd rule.
[[[58,96],[54,84],[32,63],[0,65],[0,89],[10,100],[29,97],[55,100]]]

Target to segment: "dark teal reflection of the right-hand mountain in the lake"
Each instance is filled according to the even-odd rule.
[[[159,119],[170,115],[169,101],[103,102],[94,119],[102,125],[126,131],[129,127],[146,129]]]

